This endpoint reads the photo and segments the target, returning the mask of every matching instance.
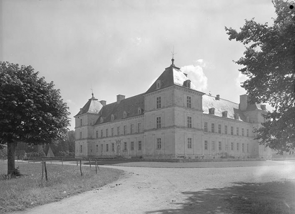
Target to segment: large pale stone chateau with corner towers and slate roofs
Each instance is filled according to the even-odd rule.
[[[75,157],[271,157],[253,133],[265,105],[200,92],[173,61],[143,94],[110,104],[92,94],[75,116]]]

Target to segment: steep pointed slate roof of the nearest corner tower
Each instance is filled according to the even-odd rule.
[[[169,66],[166,67],[164,72],[160,75],[160,77],[153,83],[153,85],[147,90],[147,93],[151,93],[156,90],[160,90],[156,88],[156,82],[160,80],[161,81],[161,87],[160,89],[177,85],[177,86],[184,86],[184,82],[189,80],[187,76],[180,70],[179,67],[176,67],[173,63]],[[191,83],[191,88],[192,90],[198,91],[196,86]]]

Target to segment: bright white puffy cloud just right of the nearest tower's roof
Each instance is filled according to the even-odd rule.
[[[197,62],[205,64],[203,59],[198,59]],[[188,74],[188,78],[197,87],[199,91],[205,91],[207,89],[208,78],[203,72],[201,65],[185,65],[181,67],[181,70]]]

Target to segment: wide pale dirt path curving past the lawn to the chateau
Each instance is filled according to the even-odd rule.
[[[15,213],[230,213],[220,188],[295,178],[294,162],[269,163],[187,169],[105,166],[126,173],[100,189]]]

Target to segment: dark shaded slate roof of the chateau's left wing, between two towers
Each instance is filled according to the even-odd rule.
[[[103,118],[103,122],[110,122],[111,121],[111,115],[114,115],[114,120],[123,119],[123,112],[127,112],[128,117],[134,117],[139,115],[138,114],[138,108],[141,108],[141,115],[144,114],[144,94],[139,94],[133,97],[126,98],[124,100],[121,100],[120,103],[114,102],[107,104],[102,107],[100,110],[100,117],[96,121],[95,125],[101,124],[100,118]]]

